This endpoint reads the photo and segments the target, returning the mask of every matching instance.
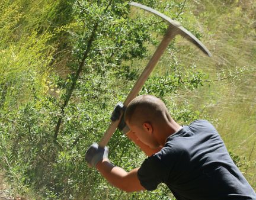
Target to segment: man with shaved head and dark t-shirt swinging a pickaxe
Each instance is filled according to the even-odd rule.
[[[127,106],[124,119],[131,138],[149,157],[126,172],[107,158],[108,149],[92,144],[86,160],[127,192],[153,191],[165,183],[177,199],[256,199],[235,166],[216,129],[205,120],[181,127],[164,102],[141,95]]]

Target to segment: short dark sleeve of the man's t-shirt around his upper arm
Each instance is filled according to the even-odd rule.
[[[153,191],[159,183],[162,183],[168,176],[167,167],[159,160],[158,156],[148,157],[140,166],[137,176],[140,184],[148,191]]]

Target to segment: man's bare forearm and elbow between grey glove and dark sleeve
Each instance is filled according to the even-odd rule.
[[[114,166],[108,159],[98,162],[96,168],[116,188],[126,192],[145,190],[137,178],[137,170],[139,168],[126,172],[121,167]]]

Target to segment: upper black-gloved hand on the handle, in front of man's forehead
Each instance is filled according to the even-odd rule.
[[[121,115],[121,111],[125,111],[125,107],[121,102],[118,102],[116,107],[114,108],[114,111],[112,112],[111,115],[111,121],[116,121],[119,120],[120,115]],[[129,127],[127,127],[126,122],[124,122],[124,115],[122,115],[121,120],[119,122],[118,128],[120,131],[122,131],[124,134],[126,134],[130,129]]]

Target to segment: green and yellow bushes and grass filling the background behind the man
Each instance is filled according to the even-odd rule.
[[[256,2],[137,2],[180,21],[213,54],[175,38],[141,93],[162,98],[180,124],[211,121],[256,189]],[[84,160],[167,24],[120,0],[2,0],[0,14],[0,196],[173,199],[164,185],[121,192]],[[119,131],[108,145],[126,170],[145,159]]]

